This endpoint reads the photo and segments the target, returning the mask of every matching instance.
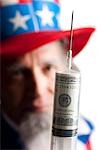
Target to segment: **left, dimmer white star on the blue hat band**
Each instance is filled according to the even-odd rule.
[[[16,11],[15,17],[9,19],[9,21],[11,23],[13,23],[13,25],[14,25],[13,30],[14,31],[17,30],[18,28],[23,28],[24,30],[27,30],[28,27],[26,25],[26,21],[29,20],[29,19],[30,19],[29,15],[22,16],[19,11]]]

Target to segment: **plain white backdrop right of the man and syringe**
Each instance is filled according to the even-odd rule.
[[[71,13],[74,10],[73,28],[95,27],[89,42],[75,58],[81,70],[82,87],[80,112],[95,126],[92,136],[93,150],[99,149],[99,4],[98,0],[60,0],[62,5],[61,25],[70,29]]]

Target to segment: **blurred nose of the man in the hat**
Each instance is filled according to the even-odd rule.
[[[47,94],[48,94],[48,81],[42,71],[34,71],[33,80],[35,83],[34,86],[34,95],[35,98],[33,100],[34,107],[45,107],[48,103]]]

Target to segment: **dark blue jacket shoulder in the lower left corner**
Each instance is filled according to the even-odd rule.
[[[24,143],[22,142],[19,134],[15,131],[5,120],[3,115],[0,117],[1,120],[1,150],[25,150]]]

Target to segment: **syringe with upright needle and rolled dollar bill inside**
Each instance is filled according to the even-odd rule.
[[[56,73],[51,150],[76,150],[80,72],[72,65],[73,12],[66,71]]]

